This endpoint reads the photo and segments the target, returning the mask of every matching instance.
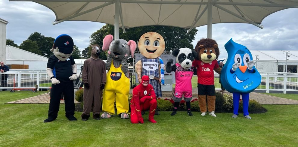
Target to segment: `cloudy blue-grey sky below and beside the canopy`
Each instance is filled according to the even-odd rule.
[[[89,45],[89,37],[100,29],[103,23],[86,21],[65,21],[52,25],[54,13],[45,6],[34,2],[0,0],[0,18],[8,21],[7,39],[20,45],[33,32],[56,38],[60,34],[68,34],[82,50]],[[212,38],[219,44],[221,55],[227,57],[224,44],[233,41],[247,46],[251,50],[298,50],[298,8],[281,10],[267,16],[260,29],[251,24],[222,23],[213,24]],[[207,37],[207,26],[197,28],[194,46],[201,38]]]

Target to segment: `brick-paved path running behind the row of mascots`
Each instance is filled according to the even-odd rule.
[[[132,90],[130,91],[130,93],[131,92]],[[227,91],[225,93],[232,95]],[[163,95],[164,95],[163,98],[169,98],[169,95],[172,95],[172,91],[163,91]],[[10,104],[48,104],[50,103],[49,97],[50,97],[49,93],[46,93],[46,94],[31,97],[31,98],[25,98],[22,100],[8,102],[8,103]],[[197,88],[193,89],[193,98],[197,98]],[[279,97],[264,95],[256,92],[250,93],[250,99],[255,99],[261,102],[261,104],[298,105],[298,101],[296,100],[279,98]],[[64,104],[64,100],[61,100],[60,103]],[[78,103],[78,102],[75,100],[75,103]]]

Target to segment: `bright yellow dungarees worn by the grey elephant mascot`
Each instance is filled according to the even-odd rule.
[[[129,78],[111,62],[110,70],[107,73],[107,82],[104,86],[102,111],[115,115],[114,102],[116,100],[117,115],[128,113]]]

